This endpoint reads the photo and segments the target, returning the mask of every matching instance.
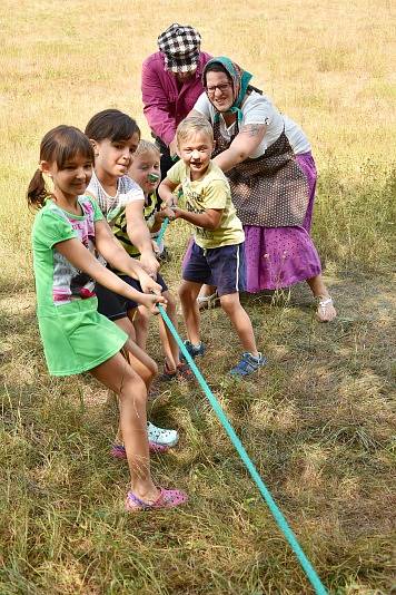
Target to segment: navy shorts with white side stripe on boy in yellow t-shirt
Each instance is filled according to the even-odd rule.
[[[182,279],[192,283],[216,285],[218,295],[245,290],[245,243],[201,248],[192,242]]]

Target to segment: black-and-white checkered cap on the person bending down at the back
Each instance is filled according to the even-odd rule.
[[[158,37],[159,50],[165,56],[165,66],[172,72],[188,72],[197,66],[200,35],[189,25],[174,22]]]

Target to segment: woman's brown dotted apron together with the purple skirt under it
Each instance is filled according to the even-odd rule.
[[[218,155],[231,144],[214,126]],[[237,133],[236,133],[237,134]],[[257,159],[227,172],[232,201],[245,230],[249,293],[288,287],[321,272],[309,235],[316,168],[310,153],[295,156],[283,133]]]

